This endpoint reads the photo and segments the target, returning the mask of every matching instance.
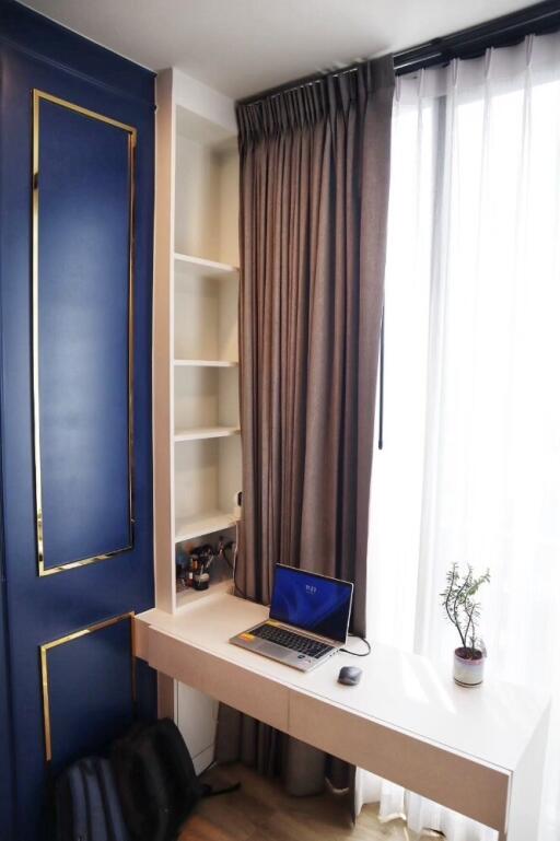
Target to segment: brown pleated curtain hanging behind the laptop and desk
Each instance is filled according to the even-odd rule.
[[[240,105],[238,595],[278,562],[353,581],[365,634],[370,475],[389,180],[390,58]],[[220,709],[218,759],[323,781],[325,758]],[[288,771],[287,771],[288,769]],[[310,780],[305,781],[305,770]]]

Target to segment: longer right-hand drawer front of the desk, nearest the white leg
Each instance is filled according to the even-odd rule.
[[[503,769],[299,692],[290,698],[289,733],[488,827],[504,830],[510,774]]]

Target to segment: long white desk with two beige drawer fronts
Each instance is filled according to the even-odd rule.
[[[304,674],[228,642],[267,616],[224,593],[174,616],[149,610],[136,617],[136,654],[290,736],[497,829],[501,841],[536,839],[547,698],[493,681],[463,689],[451,666],[442,670],[381,644],[370,657],[338,654]],[[343,665],[363,668],[358,687],[337,682]]]

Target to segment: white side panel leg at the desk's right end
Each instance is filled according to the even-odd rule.
[[[542,714],[513,772],[506,832],[500,834],[500,841],[536,841],[538,838],[550,706]]]

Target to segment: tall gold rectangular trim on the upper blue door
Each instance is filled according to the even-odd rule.
[[[104,554],[82,558],[56,566],[45,566],[45,544],[43,535],[43,488],[40,471],[40,409],[39,409],[39,313],[38,313],[38,255],[39,255],[39,110],[40,102],[54,103],[91,119],[100,120],[128,133],[129,161],[129,270],[128,270],[128,503],[129,534],[128,546],[114,549]],[[32,203],[32,332],[33,332],[33,442],[35,467],[35,506],[36,506],[36,541],[37,572],[39,577],[56,575],[66,570],[85,566],[97,561],[105,561],[115,554],[129,551],[135,545],[135,463],[133,463],[133,350],[135,350],[135,316],[133,316],[133,276],[135,276],[135,229],[136,229],[136,154],[138,131],[133,126],[127,126],[103,114],[83,108],[58,96],[33,89],[33,203]]]

